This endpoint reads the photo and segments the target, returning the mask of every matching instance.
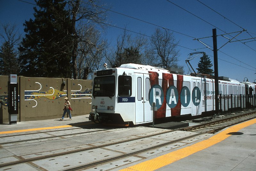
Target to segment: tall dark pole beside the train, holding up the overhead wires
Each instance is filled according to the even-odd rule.
[[[214,58],[214,79],[215,79],[215,112],[219,114],[219,71],[218,71],[218,48],[216,28],[212,29],[213,58]]]

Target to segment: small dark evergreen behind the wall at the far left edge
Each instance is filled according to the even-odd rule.
[[[0,47],[0,75],[17,74],[18,70],[17,53],[10,42],[6,41]]]

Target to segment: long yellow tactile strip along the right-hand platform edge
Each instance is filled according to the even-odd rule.
[[[221,131],[220,133],[212,136],[211,138],[208,138],[204,141],[198,142],[196,144],[190,145],[188,147],[170,152],[168,154],[156,157],[154,159],[144,161],[142,163],[121,169],[119,171],[153,171],[160,167],[164,167],[168,164],[171,164],[177,160],[183,159],[193,153],[199,152],[201,150],[204,150],[205,148],[208,148],[214,144],[217,144],[224,139],[231,136],[229,134],[230,132],[237,132],[238,130],[241,130],[242,128],[245,128],[249,125],[252,125],[256,123],[256,119],[252,119],[250,121],[240,123],[237,125],[234,125],[232,127],[229,127],[226,130]]]

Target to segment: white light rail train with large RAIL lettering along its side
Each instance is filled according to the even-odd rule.
[[[214,80],[172,74],[163,68],[123,64],[94,71],[92,121],[153,122],[154,118],[201,115],[215,109]],[[245,94],[245,85],[220,80],[220,94]]]

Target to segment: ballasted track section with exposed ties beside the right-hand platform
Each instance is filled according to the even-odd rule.
[[[253,118],[256,118],[256,112],[238,115],[230,118],[225,118],[218,121],[195,125],[187,128],[182,128],[179,130],[200,132],[200,133],[215,133],[229,126],[232,126],[244,121],[248,121]]]

